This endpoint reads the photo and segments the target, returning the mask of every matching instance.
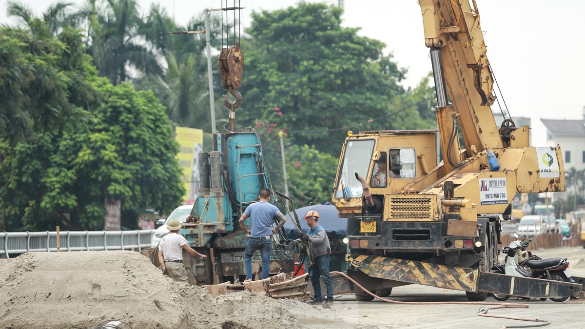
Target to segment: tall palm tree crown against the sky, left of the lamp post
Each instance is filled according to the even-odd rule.
[[[132,68],[162,73],[156,52],[139,33],[142,18],[135,0],[87,0],[76,17],[80,26],[87,26],[95,66],[112,84],[126,81]]]

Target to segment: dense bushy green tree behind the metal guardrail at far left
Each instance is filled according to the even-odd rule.
[[[0,31],[4,230],[101,228],[106,198],[134,228],[144,208],[170,211],[183,195],[164,107],[99,78],[82,39],[70,28],[53,37],[40,20]]]

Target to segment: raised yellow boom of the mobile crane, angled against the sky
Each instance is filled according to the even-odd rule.
[[[455,115],[466,157],[488,148],[503,148],[490,107],[495,100],[494,79],[475,1],[473,8],[467,0],[421,0],[419,4],[435,74],[439,133],[449,136]],[[446,90],[452,105],[447,103]],[[445,152],[448,145],[441,146]],[[443,156],[447,159],[445,153]]]

